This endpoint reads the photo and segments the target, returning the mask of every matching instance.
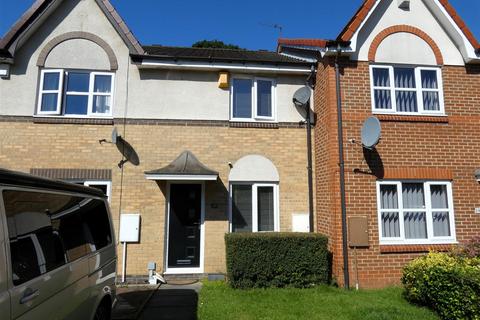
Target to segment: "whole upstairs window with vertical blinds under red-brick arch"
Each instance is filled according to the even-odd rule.
[[[439,68],[371,66],[372,105],[375,113],[443,115]]]

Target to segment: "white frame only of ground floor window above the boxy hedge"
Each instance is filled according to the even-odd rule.
[[[231,182],[229,188],[229,232],[233,232],[233,186],[248,185],[252,187],[252,231],[280,232],[280,202],[278,183]],[[273,187],[273,231],[258,231],[258,188]]]

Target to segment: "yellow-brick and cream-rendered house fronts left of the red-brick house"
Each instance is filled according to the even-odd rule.
[[[107,0],[36,1],[0,48],[0,166],[101,188],[117,236],[120,214],[140,215],[127,279],[148,262],[224,273],[226,232],[308,229],[292,96],[311,63],[142,46]],[[117,147],[99,143],[114,128],[137,165],[120,169]]]

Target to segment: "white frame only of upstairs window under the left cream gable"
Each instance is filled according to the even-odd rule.
[[[89,84],[88,92],[78,92],[78,91],[67,91],[67,82],[68,82],[68,73],[85,73],[89,75]],[[43,81],[45,73],[59,73],[59,89],[58,90],[43,90]],[[105,75],[111,77],[111,87],[110,93],[105,92],[94,92],[95,76]],[[111,118],[112,110],[114,105],[114,88],[115,88],[115,73],[105,72],[105,71],[91,71],[91,70],[76,70],[76,69],[43,69],[41,70],[40,76],[40,85],[39,85],[39,95],[38,95],[38,105],[37,105],[37,115],[39,116],[60,116],[67,118]],[[53,111],[41,111],[42,105],[42,95],[44,93],[57,93],[57,109]],[[73,96],[87,96],[87,113],[86,114],[65,114],[65,104],[67,95]],[[93,98],[94,96],[109,96],[110,97],[110,110],[106,113],[93,112]]]

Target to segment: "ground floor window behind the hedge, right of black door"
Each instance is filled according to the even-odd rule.
[[[278,185],[232,184],[231,231],[278,231]]]

